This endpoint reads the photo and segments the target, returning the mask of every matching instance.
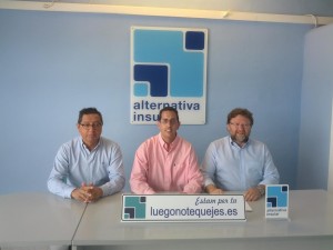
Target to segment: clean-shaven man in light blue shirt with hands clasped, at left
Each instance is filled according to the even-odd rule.
[[[80,137],[59,149],[48,180],[50,192],[92,202],[123,189],[121,149],[101,137],[102,126],[102,114],[95,108],[80,111],[77,124]]]

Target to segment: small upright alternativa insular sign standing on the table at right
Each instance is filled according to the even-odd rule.
[[[266,219],[289,219],[289,186],[268,184],[265,197]]]

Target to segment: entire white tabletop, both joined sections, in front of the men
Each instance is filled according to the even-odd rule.
[[[322,243],[322,249],[332,249],[333,194],[291,191],[290,221],[266,220],[264,199],[250,206],[253,211],[246,213],[246,222],[121,222],[121,193],[88,206],[51,193],[6,194],[0,196],[0,247],[73,243],[147,249],[162,243],[169,249],[171,242],[190,241],[183,249],[202,249],[205,242],[221,249],[222,240],[225,246],[238,242],[230,249],[249,249],[249,243],[251,249],[266,249],[283,239],[289,241],[284,249],[317,249]],[[282,248],[276,244],[276,249]]]

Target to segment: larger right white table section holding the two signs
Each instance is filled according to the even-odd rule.
[[[179,240],[333,237],[333,196],[323,190],[290,191],[290,221],[266,220],[264,199],[249,202],[246,222],[121,222],[121,194],[90,203],[74,246],[117,246]]]

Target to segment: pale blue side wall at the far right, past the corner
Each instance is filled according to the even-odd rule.
[[[333,131],[332,44],[332,24],[312,30],[305,37],[297,174],[301,189],[327,189]]]

